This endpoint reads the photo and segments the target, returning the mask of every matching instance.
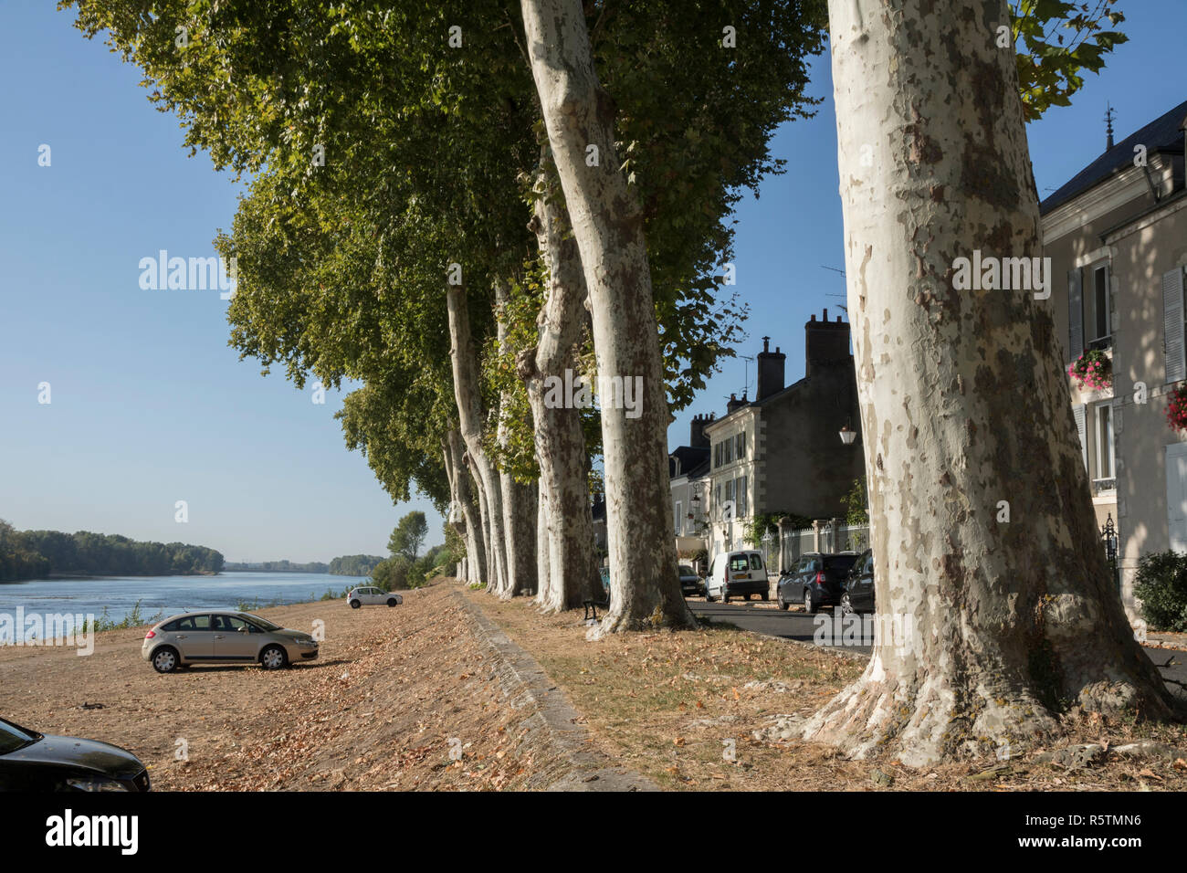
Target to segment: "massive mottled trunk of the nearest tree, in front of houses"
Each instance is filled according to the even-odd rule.
[[[921,766],[1022,748],[1065,701],[1166,716],[1105,570],[1050,317],[1033,291],[954,290],[975,249],[1042,255],[1014,49],[994,39],[1007,4],[829,6],[878,630],[897,632],[805,736]]]

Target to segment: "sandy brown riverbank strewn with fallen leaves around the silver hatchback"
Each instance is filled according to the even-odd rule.
[[[515,752],[523,713],[502,700],[472,621],[449,586],[404,597],[395,608],[337,600],[261,609],[296,630],[325,622],[318,660],[274,672],[220,665],[158,675],[140,657],[144,628],[97,634],[89,657],[2,647],[0,715],[122,746],[145,761],[155,789],[521,785],[534,765]]]

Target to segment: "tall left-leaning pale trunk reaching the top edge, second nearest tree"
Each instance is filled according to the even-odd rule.
[[[618,170],[614,105],[594,69],[579,0],[521,0],[548,143],[589,289],[602,401],[614,606],[591,635],[692,627],[671,525],[668,407],[642,213]],[[636,380],[631,410],[611,379]],[[633,404],[634,405],[634,404]],[[628,412],[630,413],[628,417]]]

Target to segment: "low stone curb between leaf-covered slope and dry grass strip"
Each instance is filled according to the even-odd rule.
[[[535,658],[512,643],[481,607],[462,592],[451,592],[474,620],[480,637],[490,646],[495,673],[509,706],[534,711],[520,722],[521,746],[545,748],[554,753],[559,765],[545,767],[528,780],[529,789],[544,791],[659,791],[649,779],[624,767],[595,749],[588,740],[584,716],[544,671]],[[547,755],[553,757],[553,755]]]

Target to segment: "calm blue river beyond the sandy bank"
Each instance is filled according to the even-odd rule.
[[[0,584],[0,613],[103,614],[120,621],[140,601],[140,615],[147,621],[191,609],[234,609],[241,601],[260,608],[278,601],[299,603],[319,599],[328,588],[342,593],[362,584],[354,576],[328,572],[223,572],[218,576],[108,576],[103,578],[31,580]],[[19,630],[18,630],[19,633]]]

